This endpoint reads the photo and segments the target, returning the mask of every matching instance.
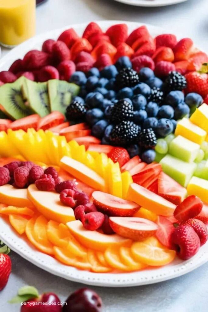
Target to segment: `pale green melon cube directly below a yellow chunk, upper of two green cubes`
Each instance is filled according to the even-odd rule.
[[[199,150],[199,144],[196,144],[181,135],[178,135],[173,139],[169,145],[169,153],[187,163],[192,163],[195,160]]]

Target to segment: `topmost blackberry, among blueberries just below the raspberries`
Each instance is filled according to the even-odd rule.
[[[134,87],[139,83],[139,76],[132,68],[123,68],[116,76],[115,85],[117,89]]]

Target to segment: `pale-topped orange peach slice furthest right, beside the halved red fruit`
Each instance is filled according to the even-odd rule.
[[[132,183],[129,186],[127,199],[133,200],[143,208],[166,217],[172,216],[176,209],[175,204],[149,191],[147,188],[143,188],[143,186],[137,183]]]

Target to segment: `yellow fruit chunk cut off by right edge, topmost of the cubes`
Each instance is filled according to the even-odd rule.
[[[208,105],[204,103],[199,108],[197,108],[191,115],[190,120],[193,124],[196,124],[201,129],[204,129],[206,132],[208,132]]]

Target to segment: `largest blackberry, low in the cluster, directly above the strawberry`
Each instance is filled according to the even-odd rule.
[[[126,146],[135,143],[141,128],[133,121],[123,120],[110,133],[109,140],[114,145]]]

